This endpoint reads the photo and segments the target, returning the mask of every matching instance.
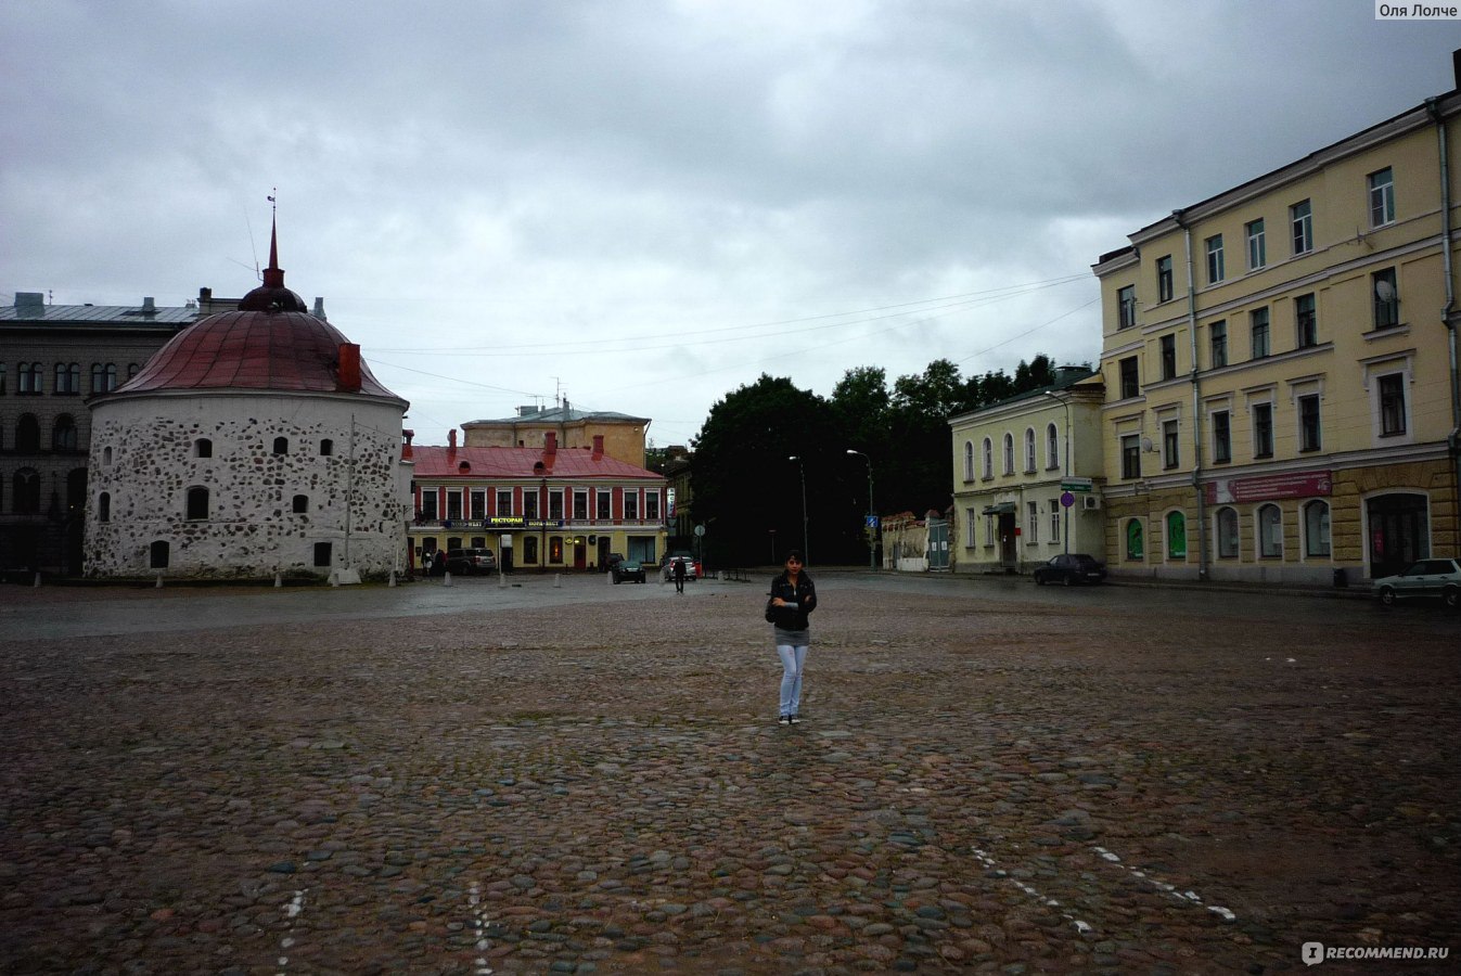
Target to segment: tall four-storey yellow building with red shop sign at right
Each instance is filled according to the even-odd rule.
[[[1461,552],[1461,94],[1105,254],[1115,574],[1335,583]]]

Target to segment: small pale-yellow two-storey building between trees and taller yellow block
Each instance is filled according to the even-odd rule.
[[[1023,573],[1062,552],[1105,560],[1100,411],[1100,375],[1061,367],[1049,387],[950,418],[954,571]]]

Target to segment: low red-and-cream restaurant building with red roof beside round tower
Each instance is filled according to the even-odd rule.
[[[659,563],[668,535],[665,478],[590,446],[406,446],[415,463],[411,548],[422,557],[492,549],[506,568],[603,570],[611,554]]]

